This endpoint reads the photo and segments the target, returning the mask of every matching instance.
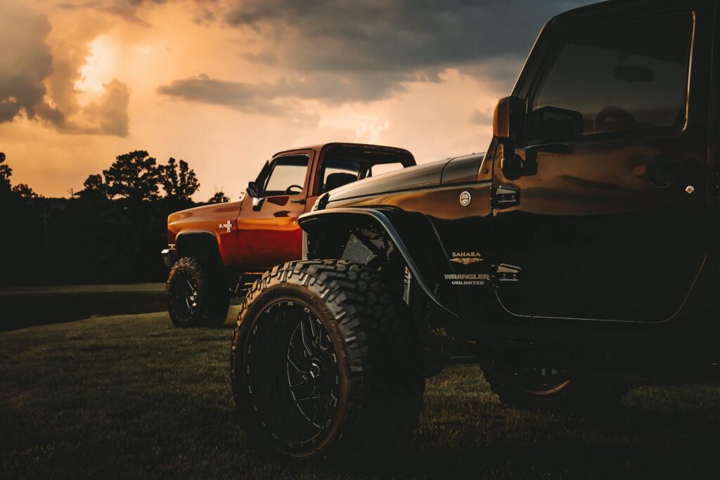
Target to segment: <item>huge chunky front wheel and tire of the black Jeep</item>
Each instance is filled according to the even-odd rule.
[[[401,294],[346,261],[296,261],[253,284],[230,353],[240,421],[258,453],[349,469],[413,436],[425,381]]]

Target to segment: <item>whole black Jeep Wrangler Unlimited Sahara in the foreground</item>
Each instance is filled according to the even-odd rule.
[[[300,217],[305,260],[248,292],[231,354],[253,445],[387,460],[424,379],[606,407],[720,363],[718,1],[608,1],[544,28],[487,153],[359,181]]]

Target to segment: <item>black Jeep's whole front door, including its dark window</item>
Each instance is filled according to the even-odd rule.
[[[680,312],[706,258],[712,5],[627,2],[546,27],[513,93],[526,171],[493,172],[498,263],[521,268],[498,282],[510,314]]]

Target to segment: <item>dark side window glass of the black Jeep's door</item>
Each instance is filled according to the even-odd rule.
[[[682,128],[691,32],[690,14],[673,12],[563,33],[531,101],[528,140]]]

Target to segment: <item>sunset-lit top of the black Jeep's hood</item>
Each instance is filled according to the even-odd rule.
[[[365,178],[331,190],[328,201],[354,199],[392,191],[428,189],[445,184],[474,181],[484,153],[446,158],[414,167],[402,168],[384,175]]]

